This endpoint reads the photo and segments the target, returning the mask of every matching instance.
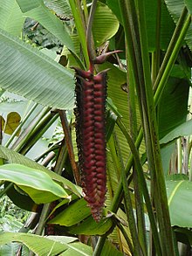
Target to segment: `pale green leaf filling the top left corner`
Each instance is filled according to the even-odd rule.
[[[15,0],[3,1],[0,8],[0,28],[13,36],[20,36],[24,25],[22,11]]]

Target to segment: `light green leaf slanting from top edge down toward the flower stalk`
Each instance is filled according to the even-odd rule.
[[[72,39],[65,30],[64,24],[45,6],[42,0],[17,0],[17,3],[19,4],[21,10],[23,10],[26,17],[31,17],[37,20],[64,45],[66,45],[70,50],[74,51]]]

